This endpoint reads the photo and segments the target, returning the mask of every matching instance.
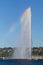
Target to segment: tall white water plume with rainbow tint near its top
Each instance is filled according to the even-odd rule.
[[[21,16],[21,40],[15,48],[14,59],[31,59],[31,8],[25,10]]]

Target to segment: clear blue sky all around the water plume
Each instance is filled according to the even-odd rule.
[[[20,35],[20,16],[32,10],[32,46],[43,46],[43,0],[0,0],[0,47],[14,47]]]

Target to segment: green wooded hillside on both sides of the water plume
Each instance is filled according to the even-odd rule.
[[[11,47],[0,48],[0,57],[11,57],[13,53],[14,53],[14,50]],[[43,47],[33,47],[32,55],[33,56],[43,56]]]

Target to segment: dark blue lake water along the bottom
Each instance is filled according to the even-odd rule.
[[[0,65],[43,65],[43,60],[0,60]]]

